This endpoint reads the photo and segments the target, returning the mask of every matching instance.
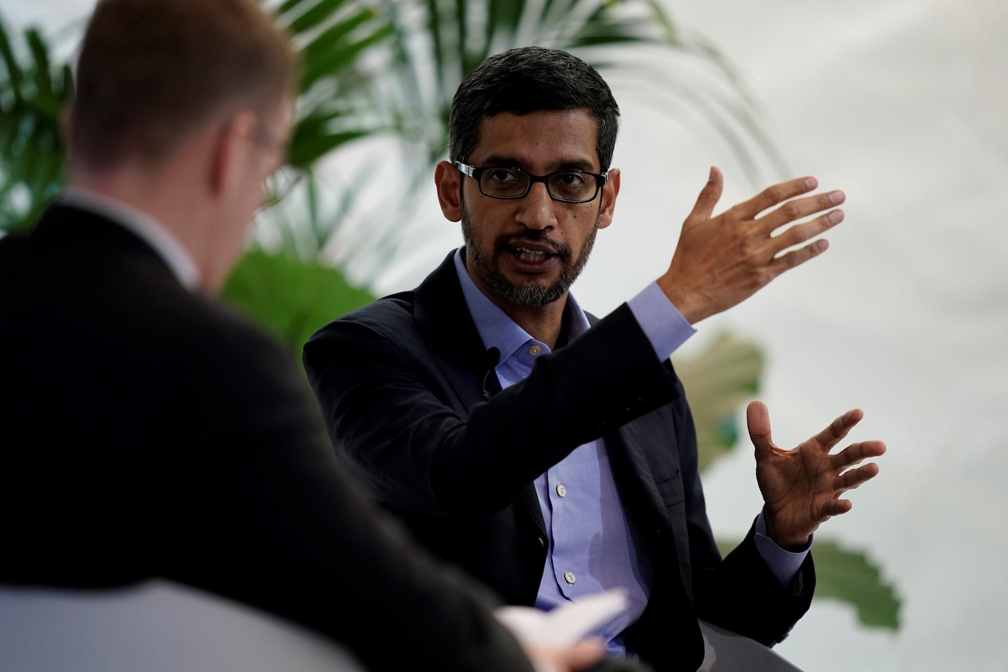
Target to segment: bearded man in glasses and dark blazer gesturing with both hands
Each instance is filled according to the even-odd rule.
[[[668,356],[692,324],[810,259],[803,244],[843,201],[812,178],[773,186],[713,218],[711,178],[669,271],[608,317],[568,289],[620,187],[610,168],[618,108],[599,75],[562,51],[493,56],[460,86],[442,211],[466,247],[415,290],[330,323],[304,364],[344,461],[436,555],[506,601],[548,610],[607,588],[627,614],[601,629],[614,655],[695,670],[698,618],[772,645],[808,608],[810,535],[872,478],[881,442],[833,447],[851,411],[794,450],[770,440],[766,407],[749,428],[765,507],[722,559],[705,512],[697,442]]]

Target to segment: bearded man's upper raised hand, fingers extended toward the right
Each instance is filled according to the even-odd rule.
[[[821,254],[829,247],[826,240],[777,257],[787,248],[840,224],[844,211],[834,210],[772,235],[780,227],[839,206],[847,197],[838,190],[788,200],[817,185],[814,177],[774,184],[712,217],[721,198],[724,177],[718,168],[711,168],[707,185],[682,224],[671,266],[658,279],[658,286],[683,317],[697,323],[740,303],[784,271]],[[758,217],[778,204],[783,205]]]

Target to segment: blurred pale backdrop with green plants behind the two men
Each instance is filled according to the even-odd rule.
[[[777,650],[809,671],[1008,669],[1008,3],[267,4],[304,58],[299,123],[283,197],[225,295],[292,356],[461,243],[432,189],[448,106],[511,46],[582,55],[622,109],[617,218],[574,289],[597,314],[667,268],[712,164],[725,208],[803,174],[847,191],[827,254],[673,357],[712,524],[731,546],[761,504],[746,401],[767,402],[788,447],[861,407],[851,440],[889,452],[816,533],[816,599]],[[0,10],[0,232],[30,226],[59,188],[67,65],[93,5]]]

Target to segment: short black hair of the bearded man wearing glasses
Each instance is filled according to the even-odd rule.
[[[599,124],[596,150],[609,169],[619,131],[620,108],[599,73],[559,49],[523,46],[490,56],[455,92],[449,120],[449,156],[466,161],[480,141],[480,123],[500,112],[588,110]]]

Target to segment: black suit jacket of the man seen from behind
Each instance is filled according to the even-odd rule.
[[[468,580],[352,491],[289,355],[139,238],[52,208],[0,241],[0,582],[161,576],[372,670],[531,671]]]

